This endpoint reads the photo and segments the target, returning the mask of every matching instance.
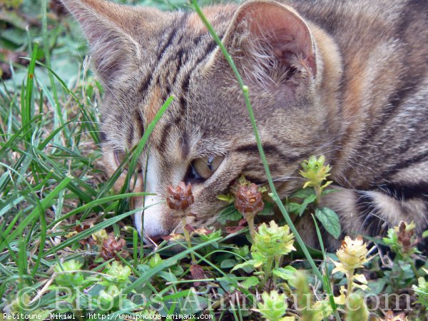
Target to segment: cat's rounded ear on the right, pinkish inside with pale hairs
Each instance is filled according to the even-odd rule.
[[[287,81],[290,72],[295,71],[305,73],[306,77],[316,76],[315,46],[310,29],[288,6],[267,1],[243,4],[223,41],[236,57],[235,61],[244,65],[243,73],[254,71],[256,78],[265,73],[264,76],[275,78],[277,82]],[[287,75],[279,74],[280,71]]]

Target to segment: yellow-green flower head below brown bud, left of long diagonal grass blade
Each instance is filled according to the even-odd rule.
[[[294,235],[288,225],[278,226],[275,221],[270,221],[259,226],[254,235],[254,243],[251,251],[263,254],[265,258],[277,258],[295,251]]]

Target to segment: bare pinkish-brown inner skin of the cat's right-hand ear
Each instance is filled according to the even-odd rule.
[[[244,13],[253,34],[270,41],[278,58],[301,56],[315,75],[315,55],[310,31],[302,19],[285,6],[258,3]]]

